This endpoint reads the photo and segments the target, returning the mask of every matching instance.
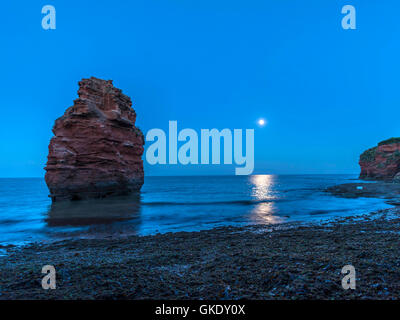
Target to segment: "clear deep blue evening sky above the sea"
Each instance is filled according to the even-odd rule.
[[[57,29],[41,28],[41,8]],[[341,28],[341,8],[357,30]],[[0,177],[41,177],[54,120],[78,81],[113,79],[137,125],[255,128],[255,173],[358,173],[400,136],[395,1],[8,1],[0,35]],[[268,120],[256,126],[260,117]],[[150,166],[148,175],[232,174]]]

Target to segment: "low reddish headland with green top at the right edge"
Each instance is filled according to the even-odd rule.
[[[361,179],[397,180],[400,173],[400,138],[382,141],[360,156]],[[396,179],[394,179],[396,177]]]

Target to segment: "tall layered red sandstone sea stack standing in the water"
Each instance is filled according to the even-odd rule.
[[[53,127],[45,167],[52,201],[138,193],[144,137],[131,99],[94,77],[79,82],[78,95]]]

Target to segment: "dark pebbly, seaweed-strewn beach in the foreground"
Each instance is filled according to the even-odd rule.
[[[392,217],[389,219],[389,215]],[[396,299],[400,215],[8,248],[1,299]],[[54,265],[57,289],[41,288]],[[356,268],[356,290],[341,269]]]

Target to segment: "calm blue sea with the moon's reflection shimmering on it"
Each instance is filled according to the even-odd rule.
[[[147,177],[140,199],[51,205],[43,179],[0,179],[0,244],[307,221],[390,207],[323,190],[352,175]]]

